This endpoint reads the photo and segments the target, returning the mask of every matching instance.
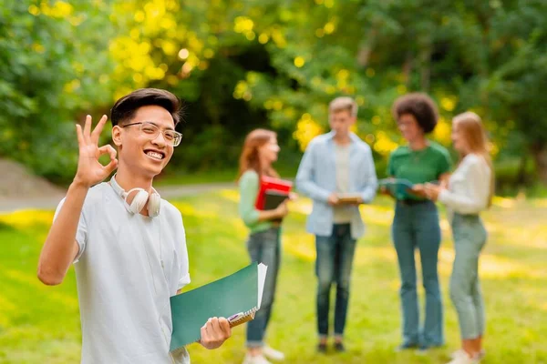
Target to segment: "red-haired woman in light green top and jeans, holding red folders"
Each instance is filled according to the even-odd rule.
[[[264,333],[274,304],[277,273],[281,261],[280,223],[274,220],[287,215],[286,202],[274,210],[258,210],[255,202],[260,177],[278,177],[272,163],[279,153],[277,136],[273,131],[256,129],[246,138],[240,157],[240,205],[243,222],[251,229],[247,249],[252,261],[268,266],[261,308],[247,324],[247,355],[244,364],[267,364],[266,359],[284,359],[284,354],[264,345]]]

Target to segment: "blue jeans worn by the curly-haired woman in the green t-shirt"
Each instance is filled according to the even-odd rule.
[[[392,237],[397,250],[401,278],[403,344],[425,347],[444,344],[442,298],[437,269],[440,227],[437,207],[431,201],[405,204],[397,201]],[[418,248],[422,283],[426,289],[426,318],[420,330],[416,262]]]

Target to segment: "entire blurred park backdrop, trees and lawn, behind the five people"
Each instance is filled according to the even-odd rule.
[[[490,133],[499,195],[484,214],[483,362],[547,363],[546,86],[545,0],[0,0],[0,363],[79,362],[74,270],[63,285],[46,287],[36,262],[76,171],[74,124],[87,114],[97,122],[139,87],[169,89],[185,104],[181,146],[157,182],[184,217],[189,289],[248,264],[233,182],[253,128],[278,133],[275,167],[294,177],[308,142],[328,131],[328,103],[355,97],[354,131],[385,177],[389,153],[403,142],[390,113],[397,96],[424,91],[436,100],[441,117],[431,138],[446,147],[451,117],[477,112]],[[206,182],[232,184],[181,187]],[[50,198],[40,205],[41,197]],[[394,351],[393,206],[377,197],[361,207],[368,230],[356,249],[348,352],[320,356],[315,240],[304,231],[311,202],[299,198],[290,209],[269,336],[285,362],[449,361],[459,330],[448,297],[454,251],[444,212],[447,346],[423,357]],[[191,346],[192,362],[241,363],[243,339],[241,328],[222,349]]]

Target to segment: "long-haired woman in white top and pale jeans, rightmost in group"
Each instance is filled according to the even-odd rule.
[[[452,355],[449,364],[471,364],[478,363],[484,355],[485,315],[479,256],[486,244],[487,232],[479,214],[490,207],[494,173],[488,139],[477,114],[466,112],[454,117],[452,142],[460,160],[449,179],[449,187],[428,184],[425,190],[430,199],[446,205],[456,250],[450,298],[458,312],[461,349]]]

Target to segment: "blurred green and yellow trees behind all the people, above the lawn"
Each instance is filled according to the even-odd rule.
[[[232,180],[258,126],[279,133],[278,167],[294,175],[345,95],[382,177],[401,143],[390,106],[419,90],[439,104],[445,146],[451,116],[484,118],[499,193],[545,194],[542,0],[2,0],[0,72],[0,156],[56,183],[75,172],[75,121],[149,86],[186,105],[166,175]]]

